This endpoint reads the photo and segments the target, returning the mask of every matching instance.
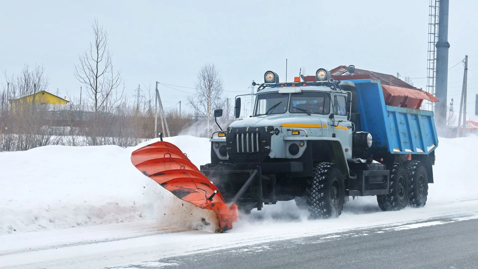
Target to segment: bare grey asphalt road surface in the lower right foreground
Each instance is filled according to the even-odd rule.
[[[478,219],[439,218],[302,237],[164,258],[144,268],[478,269]]]

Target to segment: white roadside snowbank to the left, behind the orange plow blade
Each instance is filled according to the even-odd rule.
[[[195,165],[209,162],[206,138],[177,136]],[[130,162],[144,146],[43,146],[0,153],[0,235],[146,220],[201,228],[208,210],[184,202],[145,177]]]

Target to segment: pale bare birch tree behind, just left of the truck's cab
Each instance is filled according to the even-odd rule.
[[[188,96],[187,101],[193,111],[209,122],[213,110],[217,108],[223,93],[222,78],[214,64],[205,64],[197,74],[196,94]]]

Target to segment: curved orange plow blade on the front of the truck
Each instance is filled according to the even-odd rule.
[[[179,199],[213,210],[219,220],[218,232],[232,229],[238,220],[237,205],[229,207],[217,187],[177,146],[165,141],[143,146],[131,153],[131,162]]]

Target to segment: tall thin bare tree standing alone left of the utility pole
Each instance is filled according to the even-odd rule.
[[[117,90],[121,83],[121,71],[113,69],[108,33],[98,24],[97,19],[92,28],[94,43],[90,42],[87,50],[78,56],[79,64],[75,65],[75,77],[87,87],[90,106],[95,112],[91,142],[92,145],[98,145],[99,117],[104,119],[113,111],[116,104],[122,100],[123,92],[119,93]]]

